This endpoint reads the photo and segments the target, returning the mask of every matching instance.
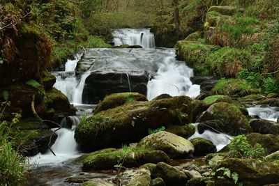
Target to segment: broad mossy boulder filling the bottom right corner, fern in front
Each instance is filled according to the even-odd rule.
[[[212,172],[216,172],[221,167],[229,169],[231,175],[232,173],[237,173],[239,176],[237,183],[243,183],[243,185],[279,183],[279,166],[271,162],[229,158],[219,162]],[[212,178],[213,183],[208,185],[235,185],[232,178],[227,178],[223,173],[224,171],[217,171]],[[225,179],[220,179],[218,176],[224,176]]]

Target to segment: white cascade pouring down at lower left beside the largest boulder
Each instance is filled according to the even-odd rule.
[[[77,125],[80,123],[80,119],[77,118],[77,116],[71,116],[71,118],[75,124],[73,125],[72,129],[61,128],[56,132],[58,137],[54,145],[51,147],[56,156],[54,156],[50,150],[48,150],[45,154],[38,153],[38,155],[29,158],[29,163],[31,165],[58,165],[65,160],[76,158],[82,155],[77,151],[77,143],[74,139],[75,127],[77,127]],[[52,130],[56,129],[57,128],[54,128]]]

